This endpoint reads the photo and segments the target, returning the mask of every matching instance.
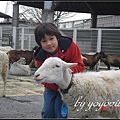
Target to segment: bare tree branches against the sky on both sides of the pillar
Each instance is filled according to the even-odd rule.
[[[25,20],[33,20],[34,23],[42,22],[42,9],[23,5],[20,5],[20,8],[22,9],[22,13],[20,14],[22,14]],[[55,11],[54,21],[58,23],[60,20],[73,17],[74,15],[75,14],[72,14],[72,12]]]

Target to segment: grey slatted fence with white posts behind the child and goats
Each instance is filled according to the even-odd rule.
[[[14,49],[32,50],[36,46],[34,27],[0,27],[0,45]],[[120,53],[120,29],[60,28],[65,35],[73,38],[81,53]],[[5,39],[6,38],[6,39]],[[99,64],[102,67],[102,64]]]

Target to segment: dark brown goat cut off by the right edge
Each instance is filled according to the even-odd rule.
[[[120,54],[106,55],[106,57],[101,58],[101,61],[107,66],[108,70],[110,70],[110,66],[119,67],[120,69]]]

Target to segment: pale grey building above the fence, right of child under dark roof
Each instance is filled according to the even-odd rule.
[[[91,28],[92,19],[59,23],[59,28]],[[104,15],[97,17],[97,28],[119,28],[120,15]]]

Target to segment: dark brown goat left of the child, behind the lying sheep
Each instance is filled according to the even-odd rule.
[[[29,50],[10,50],[7,52],[9,57],[9,63],[14,63],[18,61],[21,57],[26,59],[26,65],[29,65],[33,59],[33,54],[37,47],[35,46],[32,51]]]

